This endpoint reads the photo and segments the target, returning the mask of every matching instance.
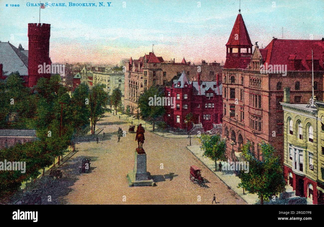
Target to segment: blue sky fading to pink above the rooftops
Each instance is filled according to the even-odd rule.
[[[148,54],[153,44],[164,60],[225,62],[225,44],[239,9],[239,0],[109,0],[104,6],[91,0],[41,2],[66,5],[45,6],[40,18],[51,24],[52,62],[61,63],[118,64]],[[28,23],[39,23],[40,13],[39,6],[28,3],[39,1],[0,0],[0,41],[28,49]],[[272,37],[324,36],[324,0],[241,0],[241,14],[252,44],[260,47]]]

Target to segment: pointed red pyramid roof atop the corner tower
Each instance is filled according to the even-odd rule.
[[[237,35],[236,35],[237,34]],[[237,37],[237,39],[235,39]],[[238,46],[252,46],[248,30],[245,27],[245,23],[241,14],[238,14],[234,23],[231,35],[226,43],[227,45]]]

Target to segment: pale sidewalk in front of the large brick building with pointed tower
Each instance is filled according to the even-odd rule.
[[[187,149],[190,150],[194,156],[196,156],[207,168],[209,168],[218,178],[220,178],[221,181],[223,181],[248,204],[260,204],[260,200],[256,194],[249,194],[245,191],[245,194],[243,195],[243,189],[237,188],[241,180],[235,176],[233,171],[226,171],[227,173],[225,171],[219,172],[217,166],[217,171],[215,172],[215,162],[207,157],[203,157],[203,151],[200,149],[199,145],[187,146]],[[219,161],[217,163],[219,163]]]

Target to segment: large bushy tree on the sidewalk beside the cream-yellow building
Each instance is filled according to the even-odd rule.
[[[264,200],[268,201],[271,196],[284,191],[283,169],[272,145],[264,141],[260,144],[262,160],[253,156],[250,146],[249,142],[242,146],[242,155],[249,163],[249,172],[240,171],[238,173],[238,177],[241,179],[238,187],[248,190],[251,194],[257,194],[260,204],[263,204]]]

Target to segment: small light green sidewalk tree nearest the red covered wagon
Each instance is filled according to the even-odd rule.
[[[199,138],[200,148],[204,151],[203,156],[212,159],[215,162],[215,171],[217,160],[226,161],[226,140],[219,134],[201,135]]]

